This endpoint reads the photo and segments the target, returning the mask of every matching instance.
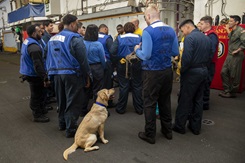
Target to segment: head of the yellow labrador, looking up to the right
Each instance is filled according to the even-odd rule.
[[[97,93],[98,97],[97,97],[96,101],[104,104],[105,106],[108,106],[108,100],[111,99],[111,97],[114,93],[115,93],[114,88],[102,89]]]

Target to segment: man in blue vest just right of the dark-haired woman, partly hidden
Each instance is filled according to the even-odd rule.
[[[104,73],[104,88],[111,89],[113,87],[113,64],[114,62],[111,60],[111,55],[109,52],[109,49],[111,48],[111,45],[113,44],[113,39],[111,35],[108,35],[109,29],[105,24],[101,24],[99,26],[99,38],[98,41],[101,42],[101,44],[104,47],[105,51],[105,57],[106,57],[106,69]],[[108,108],[115,107],[116,104],[113,103],[112,100],[108,101]]]

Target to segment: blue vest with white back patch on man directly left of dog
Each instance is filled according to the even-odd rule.
[[[48,75],[80,75],[80,64],[72,56],[70,49],[70,42],[73,37],[81,36],[78,33],[63,30],[49,40],[46,59]]]

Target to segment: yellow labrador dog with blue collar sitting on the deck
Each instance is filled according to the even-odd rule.
[[[106,106],[108,106],[108,100],[114,93],[114,89],[102,89],[98,92],[96,103],[93,104],[91,110],[84,117],[77,129],[74,137],[75,142],[63,153],[65,160],[67,160],[68,155],[75,152],[78,147],[84,148],[85,152],[99,149],[98,146],[93,146],[97,141],[97,132],[100,135],[101,141],[104,144],[108,143],[108,140],[104,138],[104,124],[108,116]]]

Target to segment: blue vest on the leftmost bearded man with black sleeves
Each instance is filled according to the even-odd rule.
[[[28,54],[28,46],[37,44],[43,53],[43,48],[39,42],[31,37],[25,39],[21,47],[20,73],[27,76],[37,76],[31,56]]]

